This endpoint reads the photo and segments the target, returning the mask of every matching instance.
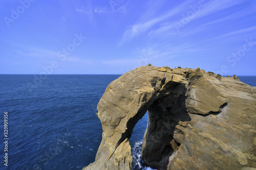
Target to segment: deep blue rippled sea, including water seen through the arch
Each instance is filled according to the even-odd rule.
[[[0,75],[0,169],[82,169],[93,162],[101,141],[97,103],[120,75]],[[256,76],[238,76],[256,86]],[[8,112],[8,167],[4,165],[4,112]],[[2,120],[1,120],[2,119]],[[142,166],[140,148],[147,115],[130,139],[133,169]]]

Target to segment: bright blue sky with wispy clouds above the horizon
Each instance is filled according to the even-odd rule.
[[[256,75],[256,1],[0,2],[0,74],[123,74],[141,65]]]

